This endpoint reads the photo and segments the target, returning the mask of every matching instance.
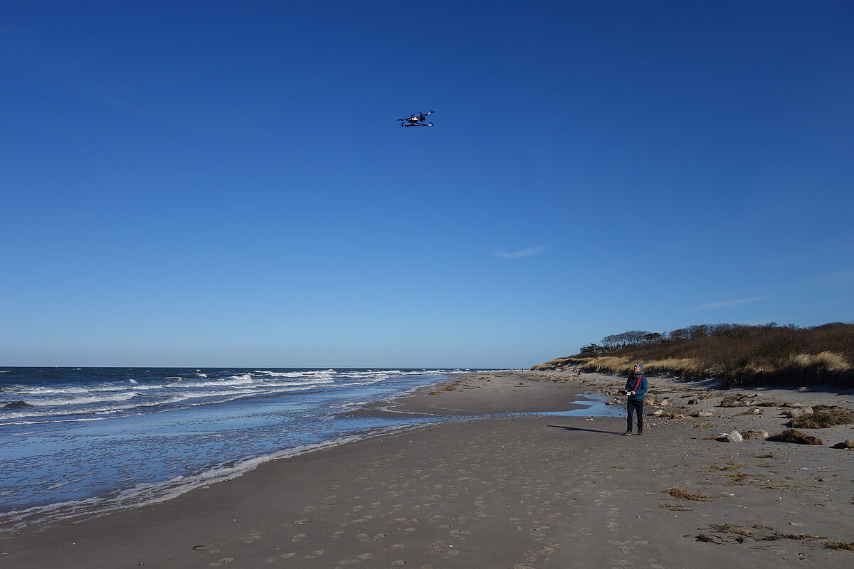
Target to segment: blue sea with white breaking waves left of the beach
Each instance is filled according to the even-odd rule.
[[[161,502],[447,418],[338,416],[474,369],[0,368],[0,528]]]

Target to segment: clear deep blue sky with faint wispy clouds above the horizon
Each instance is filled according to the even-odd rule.
[[[3,3],[0,364],[528,367],[851,322],[852,29],[847,2]]]

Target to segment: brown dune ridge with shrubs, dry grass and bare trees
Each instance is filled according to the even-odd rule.
[[[731,386],[821,384],[854,387],[854,324],[810,328],[698,324],[670,332],[631,330],[582,346],[568,357],[534,366],[628,373],[641,362],[649,374],[717,377]]]

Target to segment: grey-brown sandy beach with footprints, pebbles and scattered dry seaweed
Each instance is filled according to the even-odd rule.
[[[782,431],[782,413],[793,409],[783,404],[854,409],[854,394],[721,391],[712,382],[653,377],[649,397],[668,404],[647,404],[643,437],[622,436],[623,418],[536,415],[623,383],[573,372],[461,375],[352,413],[465,420],[268,462],[160,504],[7,532],[0,566],[854,563],[854,551],[828,549],[854,541],[854,452],[831,448],[854,438],[851,425],[804,429],[822,438],[820,446],[717,439],[733,429]],[[739,394],[749,396],[745,404],[719,406]],[[761,402],[780,405],[752,410]],[[652,415],[656,409],[662,413]],[[691,416],[699,411],[704,416]],[[674,486],[686,493],[665,493]]]

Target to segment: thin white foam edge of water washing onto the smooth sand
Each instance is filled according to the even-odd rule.
[[[36,521],[40,524],[55,525],[60,521],[72,520],[80,516],[100,517],[119,510],[166,502],[167,500],[195,490],[202,485],[211,485],[235,479],[242,474],[260,467],[265,462],[290,458],[291,456],[300,456],[314,450],[323,450],[351,441],[374,438],[390,433],[400,433],[419,427],[421,426],[377,429],[377,431],[371,433],[348,435],[323,443],[305,444],[289,450],[280,450],[270,455],[256,456],[234,464],[220,464],[203,473],[186,477],[177,476],[160,484],[138,484],[113,495],[93,496],[81,500],[57,502],[47,506],[34,506],[32,508],[0,512],[0,522],[3,525],[8,525],[7,529],[19,529]]]

